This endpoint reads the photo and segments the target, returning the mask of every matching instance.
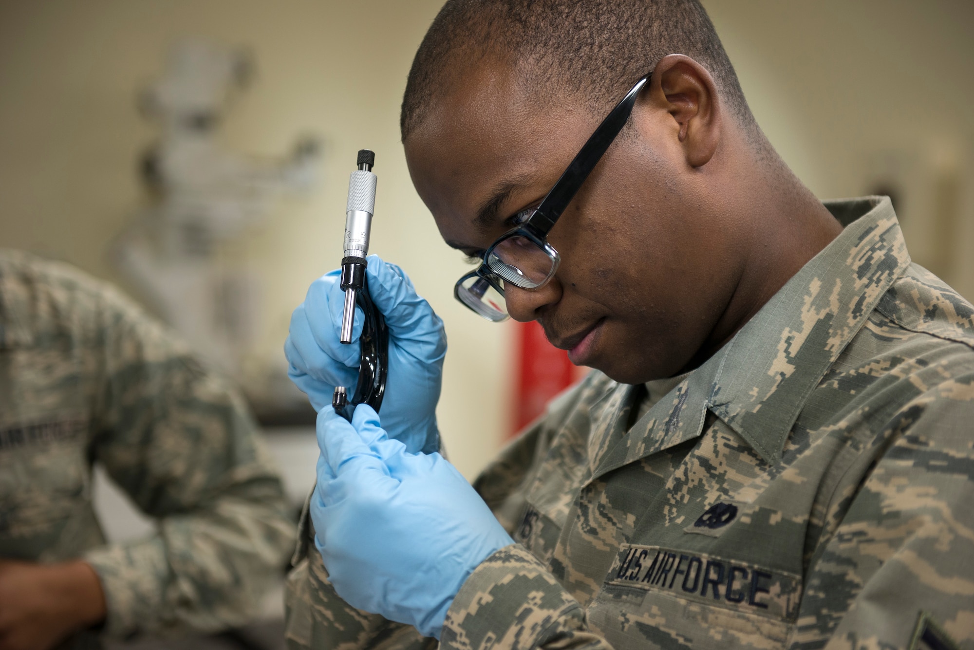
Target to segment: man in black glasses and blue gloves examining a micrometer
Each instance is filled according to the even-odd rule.
[[[321,447],[293,646],[974,648],[974,307],[888,199],[795,178],[695,0],[450,0],[402,133],[480,262],[457,297],[597,372],[474,492],[415,452],[431,398],[327,408],[354,352],[313,284],[286,344]],[[429,306],[368,272],[411,351],[391,380],[438,396]]]

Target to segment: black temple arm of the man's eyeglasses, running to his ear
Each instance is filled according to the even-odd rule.
[[[628,122],[632,107],[636,103],[636,97],[639,96],[639,91],[643,90],[649,82],[650,75],[646,75],[632,87],[632,90],[629,90],[622,101],[618,102],[616,108],[612,109],[602,124],[581,146],[579,153],[565,169],[551,191],[544,197],[541,205],[525,223],[525,226],[532,227],[532,230],[537,231],[539,235],[547,235],[548,231],[554,227],[558,217],[565,211],[572,199],[575,199],[575,195],[578,194],[581,185],[588,178],[588,174],[592,173],[592,169],[602,160],[602,156],[609,149],[609,145],[613,143],[618,132],[622,130],[622,126]]]

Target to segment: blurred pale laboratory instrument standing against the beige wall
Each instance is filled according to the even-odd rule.
[[[253,57],[243,49],[201,40],[172,47],[163,75],[139,97],[142,113],[160,126],[141,162],[148,201],[110,255],[150,307],[244,384],[258,416],[308,415],[285,368],[262,369],[258,385],[252,368],[243,372],[257,336],[261,292],[245,255],[228,254],[228,243],[265,221],[282,197],[310,190],[320,159],[318,142],[307,137],[279,158],[221,144],[220,127],[253,72]],[[271,420],[281,423],[281,417]]]

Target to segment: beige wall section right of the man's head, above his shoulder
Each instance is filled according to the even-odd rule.
[[[974,298],[974,3],[703,4],[805,184],[826,199],[894,181],[914,260]]]

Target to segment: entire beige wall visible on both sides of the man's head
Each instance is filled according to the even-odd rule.
[[[349,165],[357,149],[376,150],[373,250],[409,271],[447,323],[439,415],[453,459],[471,475],[506,431],[509,329],[454,303],[453,281],[467,267],[439,240],[412,190],[397,135],[405,75],[439,4],[0,3],[0,245],[124,282],[107,263],[105,247],[142,200],[134,162],[155,135],[134,110],[136,90],[160,71],[166,47],[180,36],[248,45],[258,77],[231,113],[228,146],[280,154],[303,132],[326,145],[318,190],[288,200],[225,251],[249,259],[263,278],[254,354],[281,363],[291,308],[341,255]],[[946,274],[974,295],[974,256],[966,254],[974,243],[974,5],[705,5],[759,122],[799,176],[822,198],[895,181],[915,257],[936,267],[953,255]],[[951,223],[950,236],[935,235],[937,224]]]

